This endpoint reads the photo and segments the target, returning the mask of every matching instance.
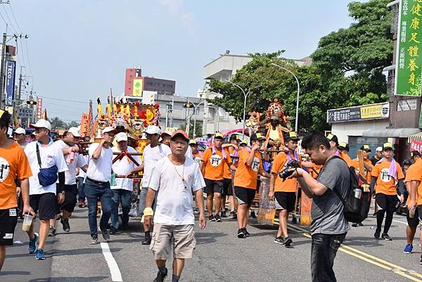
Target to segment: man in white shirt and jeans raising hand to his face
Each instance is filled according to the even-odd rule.
[[[100,143],[92,143],[89,146],[89,165],[87,180],[85,181],[84,193],[88,202],[88,222],[91,231],[91,245],[98,243],[97,229],[97,205],[98,198],[101,200],[103,214],[100,219],[101,235],[105,241],[110,239],[107,225],[113,207],[113,193],[110,189],[111,169],[113,165],[113,150],[110,148],[116,134],[116,129],[106,127],[103,129],[103,139]]]

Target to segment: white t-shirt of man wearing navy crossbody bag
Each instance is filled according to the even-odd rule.
[[[57,172],[65,172],[68,170],[68,165],[66,164],[65,158],[63,156],[62,150],[53,142],[53,139],[50,139],[48,147],[41,146],[41,143],[38,143],[39,147],[39,157],[41,158],[41,168],[49,168],[53,165],[56,165]],[[56,194],[56,184],[51,184],[49,186],[41,186],[38,180],[39,165],[37,158],[37,141],[27,144],[25,147],[25,154],[27,155],[28,161],[30,162],[32,177],[30,177],[30,195],[38,195],[44,193],[54,193]]]

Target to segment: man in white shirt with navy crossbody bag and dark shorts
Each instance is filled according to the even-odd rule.
[[[30,177],[30,206],[34,212],[39,212],[39,238],[37,233],[34,233],[34,224],[32,224],[30,231],[27,232],[30,237],[28,252],[30,254],[36,252],[36,259],[45,259],[44,244],[49,233],[50,219],[56,218],[56,201],[61,204],[65,199],[65,171],[68,170],[68,165],[66,165],[62,151],[53,143],[53,139],[49,136],[51,132],[50,122],[41,119],[36,124],[30,124],[30,127],[35,129],[34,133],[37,141],[27,144],[25,154],[32,170],[32,177]],[[51,184],[44,184],[42,180],[43,174],[41,173],[41,182],[45,186],[41,185],[39,179],[40,169],[43,171],[46,169],[56,171],[58,184],[56,184],[57,178],[49,178],[47,182],[51,182]],[[56,200],[56,193],[58,194],[58,200]],[[37,241],[39,241],[38,247]]]

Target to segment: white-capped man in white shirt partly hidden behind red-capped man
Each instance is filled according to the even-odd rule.
[[[160,144],[160,128],[156,125],[149,125],[145,131],[146,138],[150,141],[150,144],[143,149],[143,164],[139,167],[132,169],[131,174],[135,174],[143,170],[142,188],[141,195],[139,195],[139,210],[143,211],[146,203],[146,191],[148,190],[148,184],[153,173],[153,168],[158,160],[170,155],[172,150],[169,146]],[[151,244],[151,233],[149,226],[143,224],[143,231],[145,232],[145,239],[142,241],[142,245]]]

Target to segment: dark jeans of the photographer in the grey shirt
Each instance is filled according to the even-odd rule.
[[[336,282],[333,265],[337,250],[345,240],[346,233],[312,235],[311,274],[312,282]]]

